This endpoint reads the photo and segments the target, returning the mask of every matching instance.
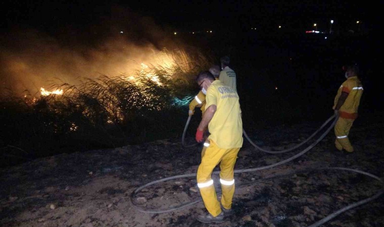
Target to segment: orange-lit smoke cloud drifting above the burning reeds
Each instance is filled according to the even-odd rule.
[[[79,83],[79,78],[129,74],[140,64],[167,64],[162,48],[182,48],[169,28],[126,8],[84,28],[58,26],[55,34],[17,29],[2,38],[1,89],[38,95],[40,87]],[[164,60],[164,61],[162,61]]]

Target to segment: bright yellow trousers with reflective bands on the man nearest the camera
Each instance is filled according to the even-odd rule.
[[[221,149],[212,140],[202,153],[202,161],[198,168],[197,182],[204,205],[212,216],[221,213],[220,203],[217,200],[216,190],[211,178],[213,169],[220,163],[221,204],[225,209],[232,206],[234,194],[233,168],[240,148]]]

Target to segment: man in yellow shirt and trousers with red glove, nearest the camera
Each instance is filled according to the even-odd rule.
[[[237,92],[215,80],[209,72],[202,72],[197,82],[206,93],[206,110],[196,132],[196,141],[204,141],[204,131],[210,136],[205,141],[206,151],[198,168],[197,182],[208,214],[200,215],[204,223],[222,222],[229,213],[234,194],[233,168],[237,153],[243,146],[243,122]],[[211,178],[220,163],[221,206]]]

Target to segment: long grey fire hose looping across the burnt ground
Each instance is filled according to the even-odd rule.
[[[281,164],[284,164],[286,162],[289,162],[289,161],[292,161],[296,158],[298,158],[299,156],[303,155],[304,153],[306,153],[307,151],[309,151],[310,149],[312,149],[317,143],[319,143],[328,133],[329,131],[333,128],[333,126],[336,124],[337,120],[338,120],[338,116],[337,115],[333,115],[331,116],[327,121],[325,121],[325,123],[315,132],[313,133],[310,137],[308,137],[304,142],[300,143],[299,145],[296,145],[294,146],[295,148],[298,148],[299,146],[303,145],[305,142],[309,141],[311,138],[313,138],[322,128],[325,127],[326,124],[328,124],[332,119],[334,118],[334,121],[333,123],[326,129],[326,131],[316,140],[314,141],[312,144],[310,144],[307,148],[305,148],[303,151],[299,152],[298,154],[290,157],[290,158],[287,158],[285,160],[282,160],[282,161],[279,161],[277,163],[274,163],[274,164],[270,164],[270,165],[266,165],[266,166],[261,166],[261,167],[255,167],[255,168],[246,168],[246,169],[235,169],[234,170],[234,173],[235,174],[239,174],[239,173],[248,173],[248,172],[256,172],[256,171],[261,171],[262,169],[267,169],[267,168],[272,168],[272,167],[275,167],[275,166],[278,166],[278,165],[281,165]],[[188,125],[189,125],[189,121],[191,119],[191,116],[188,117],[188,120],[186,122],[186,125],[185,125],[185,128],[184,128],[184,132],[183,132],[183,136],[182,136],[182,145],[184,147],[191,147],[191,146],[195,146],[197,144],[192,144],[192,145],[188,145],[188,146],[185,146],[185,143],[184,143],[184,138],[185,138],[185,132],[186,132],[186,129],[188,128]],[[243,131],[243,134],[244,136],[247,138],[247,140],[257,149],[261,150],[261,151],[264,151],[264,152],[267,152],[267,153],[271,153],[271,152],[276,152],[276,151],[269,151],[269,150],[265,150],[265,149],[262,149],[260,148],[259,146],[257,146],[256,144],[254,144],[252,142],[251,139],[249,139],[248,135],[245,133],[245,131]],[[286,149],[286,150],[283,150],[283,151],[277,151],[279,153],[284,153],[284,152],[287,152],[287,151],[291,151],[295,148],[289,148],[289,149]],[[370,174],[370,173],[367,173],[367,172],[364,172],[364,171],[360,171],[358,169],[352,169],[352,168],[345,168],[345,167],[318,167],[318,168],[308,168],[308,169],[301,169],[299,171],[294,171],[294,172],[291,172],[291,173],[288,173],[288,174],[283,174],[283,175],[275,175],[275,176],[270,176],[270,177],[266,177],[264,179],[261,179],[259,181],[255,181],[255,182],[250,182],[250,183],[243,183],[243,184],[239,184],[237,185],[237,187],[239,188],[242,188],[242,187],[246,187],[246,186],[250,186],[250,185],[254,185],[254,184],[260,184],[260,183],[263,183],[263,182],[266,182],[266,181],[271,181],[272,179],[275,179],[275,178],[281,178],[281,177],[286,177],[286,176],[290,176],[290,175],[294,175],[294,174],[298,174],[298,173],[306,173],[306,172],[314,172],[314,171],[332,171],[332,170],[341,170],[341,171],[349,171],[349,172],[354,172],[354,173],[358,173],[358,174],[362,174],[362,175],[365,175],[365,176],[368,176],[368,177],[371,177],[377,181],[379,181],[379,183],[381,184],[381,190],[379,190],[376,194],[374,194],[373,196],[369,197],[369,198],[366,198],[366,199],[363,199],[363,200],[360,200],[358,202],[355,202],[355,203],[352,203],[348,206],[345,206],[337,211],[334,211],[333,213],[329,214],[328,216],[322,218],[321,220],[309,225],[308,227],[317,227],[317,226],[320,226],[321,224],[329,221],[330,219],[334,218],[335,216],[347,211],[347,210],[350,210],[352,208],[355,208],[357,206],[360,206],[362,204],[365,204],[365,203],[368,203],[374,199],[377,199],[379,198],[383,193],[384,193],[384,182],[377,176],[373,175],[373,174]],[[213,172],[212,174],[219,174],[220,171],[215,171]],[[192,177],[196,177],[196,174],[184,174],[184,175],[177,175],[177,176],[172,176],[172,177],[168,177],[168,178],[164,178],[164,179],[160,179],[160,180],[156,180],[156,181],[152,181],[150,183],[147,183],[145,185],[142,185],[138,188],[136,188],[132,193],[131,193],[131,196],[130,196],[130,202],[132,204],[132,206],[140,211],[140,212],[143,212],[143,213],[167,213],[167,212],[172,212],[172,211],[175,211],[175,210],[179,210],[179,209],[183,209],[187,206],[191,206],[193,204],[196,204],[196,203],[199,203],[202,201],[202,198],[199,198],[199,199],[196,199],[196,200],[193,200],[193,201],[190,201],[190,202],[186,202],[186,203],[182,203],[182,204],[179,204],[177,206],[173,206],[173,207],[169,207],[169,208],[165,208],[165,209],[146,209],[146,208],[143,208],[141,207],[139,204],[135,203],[134,201],[134,198],[136,196],[136,194],[138,192],[140,192],[142,189],[144,188],[147,188],[151,185],[155,185],[155,184],[158,184],[158,183],[161,183],[161,182],[165,182],[165,181],[170,181],[170,180],[174,180],[174,179],[180,179],[180,178],[192,178]],[[221,193],[217,193],[218,195],[220,195]]]

